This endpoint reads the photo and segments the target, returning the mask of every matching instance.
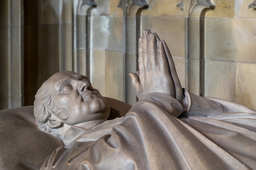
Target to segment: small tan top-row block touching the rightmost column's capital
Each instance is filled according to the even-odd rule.
[[[212,2],[213,4],[215,4],[215,8],[207,11],[207,13],[205,14],[205,17],[212,17],[212,18],[233,18],[234,17],[235,0],[212,0]]]

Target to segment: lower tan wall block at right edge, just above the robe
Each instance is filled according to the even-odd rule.
[[[256,109],[256,64],[236,63],[236,102]]]

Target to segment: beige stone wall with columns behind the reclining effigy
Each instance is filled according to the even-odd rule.
[[[128,73],[137,70],[143,29],[166,40],[183,87],[256,108],[254,1],[1,0],[0,108],[33,104],[62,70],[133,104]]]

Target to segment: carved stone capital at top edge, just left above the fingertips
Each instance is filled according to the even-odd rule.
[[[148,4],[145,0],[120,0],[117,7],[123,9],[124,15],[128,15],[132,5],[137,5],[139,8],[146,8]]]

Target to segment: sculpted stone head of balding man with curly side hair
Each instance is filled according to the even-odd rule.
[[[55,73],[35,95],[38,127],[56,137],[60,137],[60,129],[65,126],[107,119],[109,113],[108,103],[92,87],[88,77],[71,71]]]

